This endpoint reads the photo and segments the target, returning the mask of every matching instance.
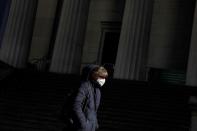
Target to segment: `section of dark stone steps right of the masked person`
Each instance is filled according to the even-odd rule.
[[[103,92],[103,129],[124,131],[189,131],[189,92],[183,87],[113,81]]]

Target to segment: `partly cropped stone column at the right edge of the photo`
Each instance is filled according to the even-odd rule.
[[[193,18],[192,36],[187,65],[186,84],[197,86],[197,2]]]

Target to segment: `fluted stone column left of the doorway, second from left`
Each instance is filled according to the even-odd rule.
[[[79,73],[89,0],[64,0],[50,71]]]

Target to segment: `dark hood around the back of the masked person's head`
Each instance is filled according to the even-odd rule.
[[[86,65],[85,67],[83,67],[82,74],[81,74],[81,80],[82,81],[89,80],[89,76],[90,76],[92,70],[97,67],[99,67],[99,65],[94,65],[94,64]]]

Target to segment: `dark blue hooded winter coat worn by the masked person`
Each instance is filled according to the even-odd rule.
[[[100,104],[100,85],[89,79],[91,71],[97,67],[89,65],[83,69],[83,80],[72,106],[75,131],[95,131],[98,128],[97,110]]]

